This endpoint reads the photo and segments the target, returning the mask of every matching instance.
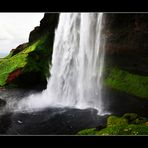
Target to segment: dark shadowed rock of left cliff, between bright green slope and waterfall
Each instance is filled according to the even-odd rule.
[[[35,27],[30,32],[29,44],[40,40],[44,36],[46,36],[46,39],[41,46],[37,47],[39,50],[37,49],[28,56],[28,63],[24,67],[24,73],[15,80],[19,86],[23,84],[22,87],[27,88],[29,86],[35,86],[41,89],[46,88],[47,77],[50,75],[49,65],[51,65],[52,61],[54,33],[58,25],[58,19],[58,13],[45,13],[43,19],[40,21],[40,26]]]

